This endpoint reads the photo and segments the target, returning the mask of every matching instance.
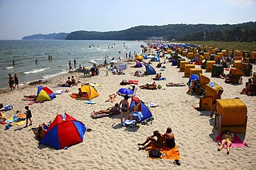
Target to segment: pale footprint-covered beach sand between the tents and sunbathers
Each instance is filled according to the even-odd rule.
[[[163,59],[161,59],[163,61]],[[129,66],[134,62],[129,62]],[[156,67],[157,63],[152,63]],[[70,92],[57,95],[57,98],[44,103],[30,105],[33,115],[33,126],[13,125],[5,130],[0,125],[1,141],[1,169],[256,169],[256,98],[255,96],[241,95],[241,89],[249,77],[243,77],[242,85],[230,85],[224,83],[220,78],[211,78],[211,73],[203,70],[203,74],[210,77],[212,82],[221,85],[224,89],[222,98],[240,99],[247,105],[248,124],[246,134],[241,134],[250,148],[232,148],[230,155],[226,149],[217,151],[217,142],[214,138],[218,135],[214,129],[214,118],[210,118],[211,111],[196,111],[193,107],[199,107],[199,96],[186,94],[188,86],[166,87],[167,82],[188,82],[183,77],[179,68],[165,64],[162,72],[166,81],[157,81],[163,85],[163,89],[147,90],[139,89],[136,96],[145,103],[153,102],[159,107],[150,108],[154,121],[149,125],[140,125],[129,128],[120,125],[120,116],[91,118],[93,110],[107,109],[114,103],[105,102],[109,94],[116,93],[121,87],[122,79],[138,80],[139,85],[152,83],[153,76],[135,77],[136,70],[145,72],[145,67],[131,68],[125,70],[125,75],[105,76],[106,69],[100,69],[100,75],[84,78],[81,73],[68,73],[55,77],[44,84],[44,86],[55,90],[65,89],[57,87],[64,83],[67,76],[75,76],[77,81],[87,83],[98,83],[101,87],[95,87],[100,96],[93,98],[95,105],[84,104],[83,100],[75,100],[68,96],[77,93],[80,85],[69,88]],[[156,72],[160,69],[156,68]],[[255,65],[253,72],[256,72]],[[24,112],[28,101],[22,100],[24,95],[36,94],[37,86],[28,86],[12,91],[1,92],[0,102],[4,105],[12,104],[13,109],[5,112],[6,116],[14,116],[16,110]],[[122,97],[118,96],[116,103]],[[87,128],[92,129],[84,134],[84,141],[68,149],[53,149],[46,145],[39,145],[31,127],[38,127],[40,123],[48,123],[57,114],[66,112],[77,120],[82,121]],[[165,133],[167,127],[172,127],[176,145],[181,153],[181,166],[173,164],[173,160],[150,160],[146,151],[138,151],[138,142],[144,142],[147,136],[151,136],[154,130]]]

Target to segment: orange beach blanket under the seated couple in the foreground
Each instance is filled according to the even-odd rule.
[[[149,154],[149,151],[151,151],[152,149],[158,149],[158,147],[151,145],[150,147],[147,148],[147,154]],[[180,152],[179,149],[177,147],[177,145],[175,145],[175,147],[170,148],[170,147],[162,147],[160,149],[161,153],[165,153],[165,156],[163,156],[164,154],[162,154],[162,156],[160,158],[154,158],[154,159],[167,159],[167,160],[180,160],[181,156],[180,156]],[[153,159],[150,158],[149,159]]]

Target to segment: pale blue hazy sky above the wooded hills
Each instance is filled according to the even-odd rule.
[[[256,21],[256,0],[0,0],[0,39],[138,25]]]

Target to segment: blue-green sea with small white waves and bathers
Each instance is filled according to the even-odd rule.
[[[125,59],[141,52],[144,41],[66,41],[66,40],[0,40],[0,88],[8,87],[8,74],[16,73],[20,85],[53,78],[68,72],[68,61],[74,67],[91,67],[93,63]],[[53,59],[48,59],[51,55]],[[37,59],[37,63],[35,62]],[[15,61],[15,65],[12,62]]]

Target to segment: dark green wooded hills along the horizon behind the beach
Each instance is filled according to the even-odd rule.
[[[66,40],[147,40],[152,36],[176,41],[256,41],[256,22],[239,24],[140,25],[121,31],[75,31]]]

